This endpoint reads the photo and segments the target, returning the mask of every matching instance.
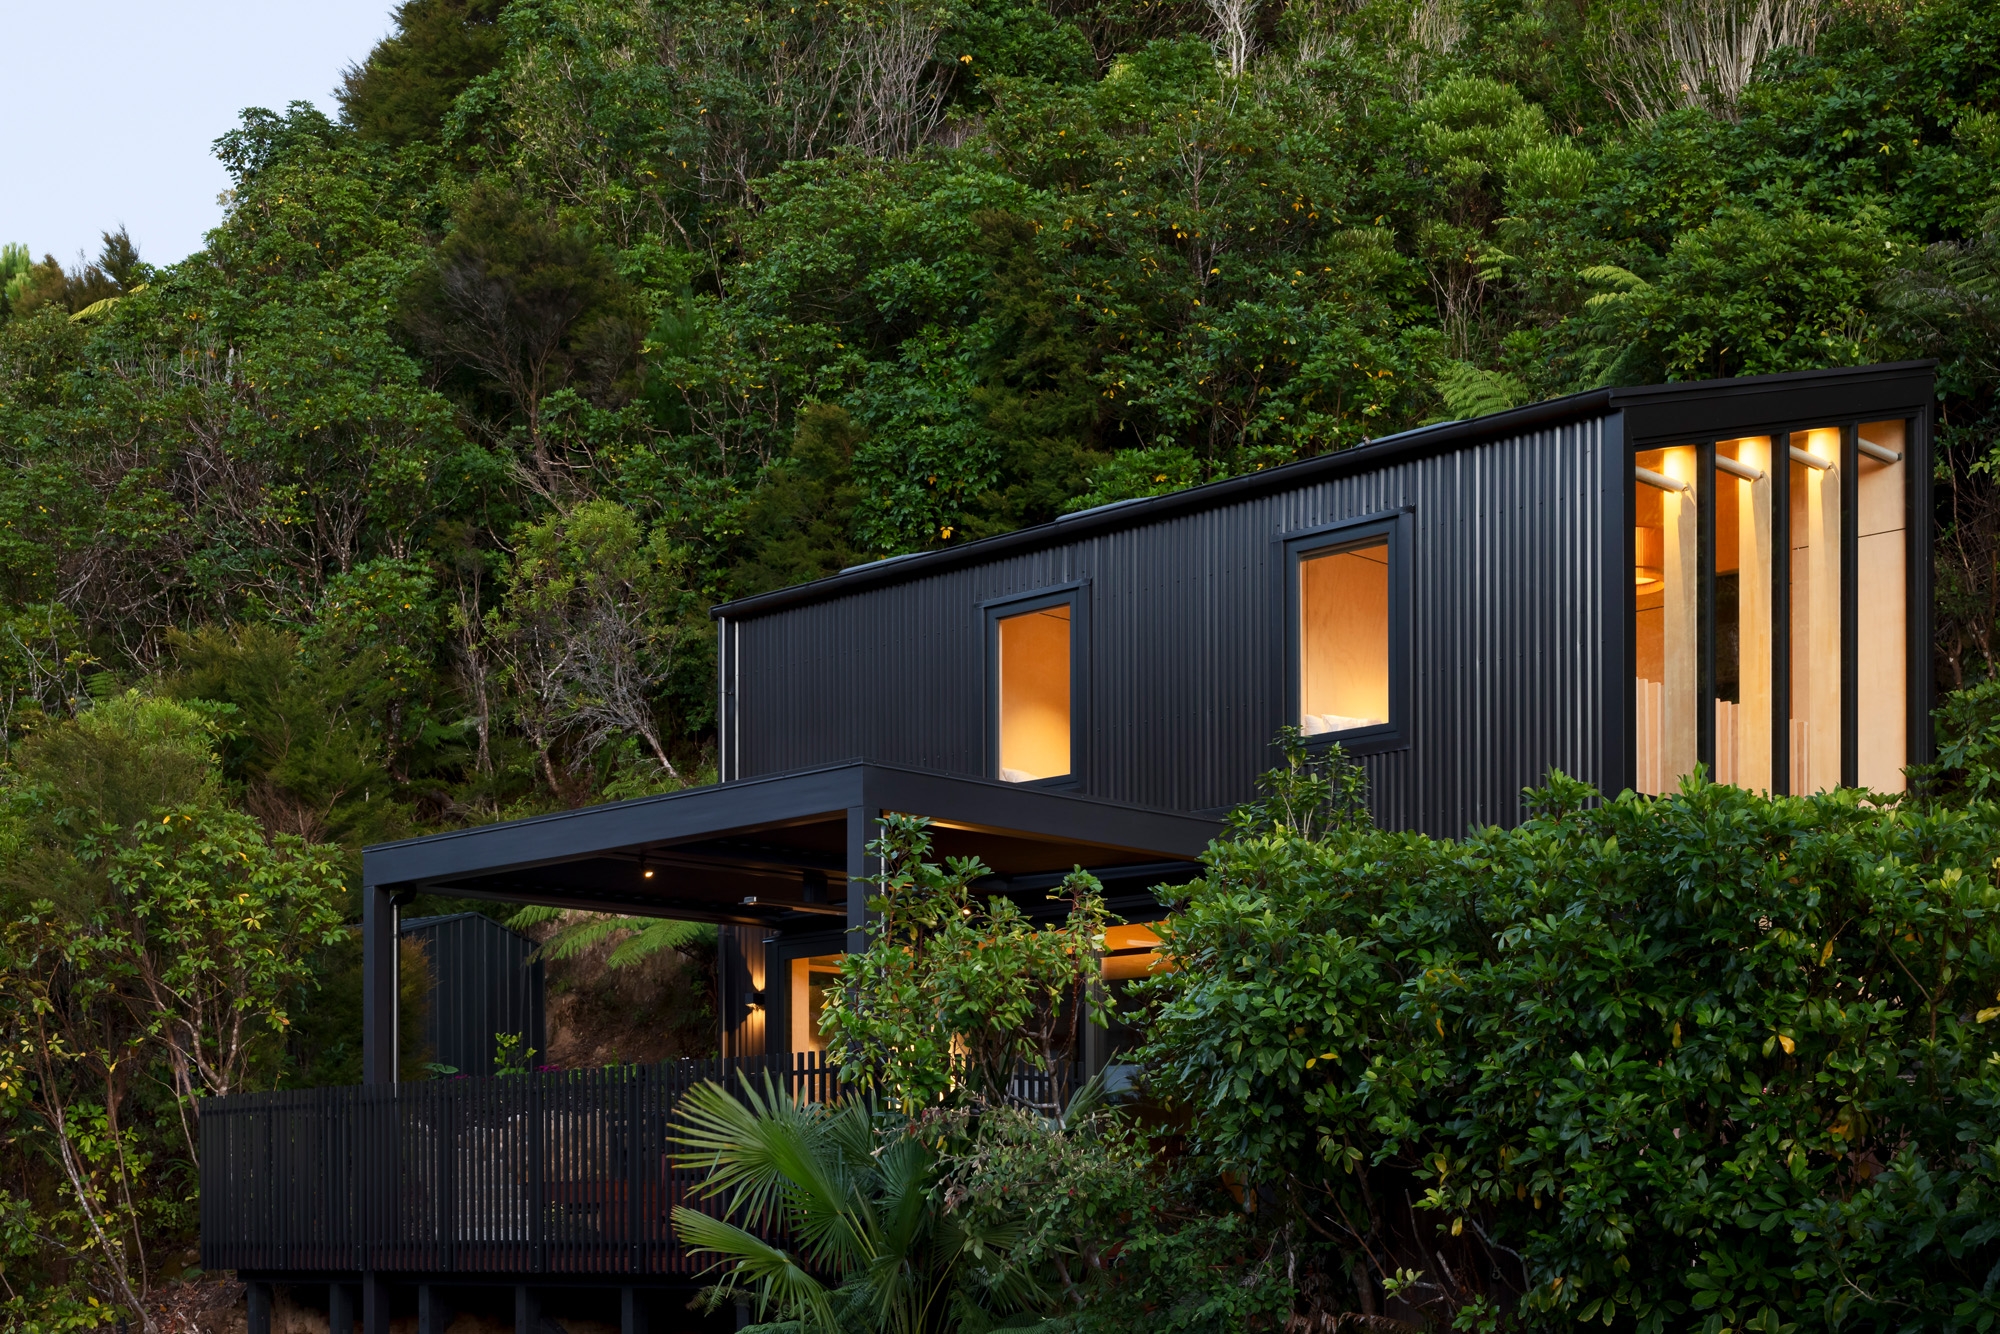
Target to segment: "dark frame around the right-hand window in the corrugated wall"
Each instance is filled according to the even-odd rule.
[[[1416,550],[1412,540],[1414,514],[1410,510],[1388,510],[1342,518],[1330,524],[1316,524],[1278,536],[1280,578],[1278,578],[1278,624],[1282,632],[1282,652],[1278,664],[1280,712],[1272,726],[1300,726],[1302,720],[1302,670],[1300,652],[1304,630],[1300,626],[1298,566],[1314,556],[1330,556],[1358,546],[1388,544],[1388,722],[1372,728],[1348,728],[1344,732],[1316,732],[1306,736],[1310,748],[1324,750],[1340,744],[1348,754],[1380,754],[1384,750],[1406,750],[1412,738],[1410,720],[1410,556]]]

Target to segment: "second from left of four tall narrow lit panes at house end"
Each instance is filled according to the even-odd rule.
[[[1716,444],[1716,782],[1770,792],[1770,438]]]

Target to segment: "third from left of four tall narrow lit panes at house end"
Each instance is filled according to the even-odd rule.
[[[1840,430],[1792,432],[1790,460],[1790,790],[1822,792],[1840,786]]]

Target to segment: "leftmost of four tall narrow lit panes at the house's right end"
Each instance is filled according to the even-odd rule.
[[[1632,716],[1640,792],[1668,792],[1692,774],[1700,742],[1696,460],[1686,446],[1648,450],[1634,460]]]

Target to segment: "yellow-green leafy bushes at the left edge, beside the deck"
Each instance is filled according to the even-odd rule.
[[[38,730],[0,784],[8,1328],[142,1308],[194,1222],[196,1100],[272,1080],[340,936],[340,850],[226,802],[222,730],[126,694]]]

